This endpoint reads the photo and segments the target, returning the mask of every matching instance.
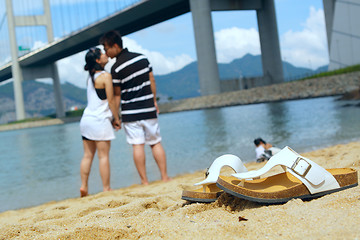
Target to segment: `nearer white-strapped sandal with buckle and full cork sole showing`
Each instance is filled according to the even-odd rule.
[[[262,179],[257,178],[274,166],[286,172]],[[225,192],[259,203],[285,203],[293,198],[310,200],[358,185],[357,171],[351,168],[325,170],[313,161],[285,147],[267,164],[256,171],[219,176],[217,186]]]

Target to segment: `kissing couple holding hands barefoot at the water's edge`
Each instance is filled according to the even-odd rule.
[[[88,105],[80,121],[84,156],[80,164],[80,195],[88,195],[88,178],[95,152],[98,151],[103,191],[110,191],[110,141],[115,131],[121,129],[126,140],[133,146],[133,158],[141,183],[149,184],[146,176],[144,145],[149,144],[166,182],[170,178],[166,170],[166,155],[161,145],[157,120],[156,85],[152,67],[144,55],[123,48],[122,37],[117,31],[105,33],[99,48],[90,49],[85,56]],[[116,57],[111,74],[104,71],[108,57]],[[121,119],[119,107],[121,103]],[[112,119],[112,121],[111,121]]]

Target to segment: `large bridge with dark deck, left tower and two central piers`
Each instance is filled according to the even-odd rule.
[[[51,77],[54,82],[56,114],[64,116],[59,77],[55,62],[98,45],[99,38],[109,30],[119,30],[125,36],[146,27],[192,13],[199,81],[202,95],[220,92],[219,73],[215,55],[211,11],[255,10],[257,13],[264,81],[267,84],[283,81],[279,38],[274,0],[141,0],[121,9],[94,24],[58,40],[49,36],[51,16],[49,0],[43,0],[45,13],[37,22],[47,25],[49,44],[18,57],[17,46],[12,46],[12,62],[0,67],[0,82],[13,78],[17,119],[25,118],[21,81]],[[9,32],[15,27],[36,24],[31,19],[13,15],[12,2],[6,0]],[[46,9],[48,9],[46,11]],[[43,18],[42,18],[43,17]],[[13,35],[13,36],[12,36]],[[15,33],[9,34],[16,43]]]

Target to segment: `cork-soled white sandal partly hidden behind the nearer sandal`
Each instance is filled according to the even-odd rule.
[[[202,185],[202,187],[195,190],[184,190],[181,199],[200,203],[216,201],[221,193],[223,193],[223,191],[216,186],[216,180],[220,175],[221,168],[224,166],[231,167],[236,173],[247,171],[241,159],[237,156],[231,154],[222,155],[211,164],[205,173],[206,179],[194,184],[195,186]]]

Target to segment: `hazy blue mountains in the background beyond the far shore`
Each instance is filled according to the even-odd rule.
[[[247,54],[230,63],[220,63],[218,66],[221,81],[237,79],[240,76],[244,78],[262,76],[260,55]],[[327,66],[314,71],[283,62],[283,69],[286,81],[290,81],[327,71]],[[200,96],[197,62],[192,62],[176,72],[155,76],[155,79],[157,96],[160,101]],[[61,89],[65,110],[68,111],[73,106],[78,108],[86,106],[85,89],[78,88],[70,83],[62,84]],[[23,92],[27,118],[46,116],[55,112],[54,91],[51,84],[24,81]],[[13,83],[8,83],[0,87],[0,123],[14,121],[15,118]]]

